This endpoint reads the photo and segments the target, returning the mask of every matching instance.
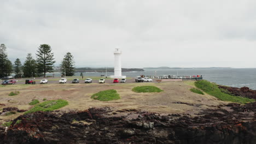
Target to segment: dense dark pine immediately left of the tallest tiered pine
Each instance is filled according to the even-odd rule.
[[[25,77],[32,77],[36,74],[36,60],[33,59],[31,53],[27,54],[22,71]]]

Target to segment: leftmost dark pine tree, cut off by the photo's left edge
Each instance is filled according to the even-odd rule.
[[[0,45],[0,78],[8,76],[12,71],[11,62],[8,59],[6,52],[6,46],[4,44]]]

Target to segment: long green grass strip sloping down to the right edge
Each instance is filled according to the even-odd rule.
[[[211,83],[209,81],[206,81],[206,80],[196,81],[195,86],[197,88],[202,89],[202,91],[218,98],[219,100],[231,101],[234,103],[241,103],[241,104],[254,102],[253,99],[233,96],[233,95],[224,93],[224,92],[222,92],[222,89],[218,88],[217,85],[215,85],[214,83]]]

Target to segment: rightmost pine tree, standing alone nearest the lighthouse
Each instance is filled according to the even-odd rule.
[[[66,72],[66,76],[73,76],[75,69],[74,64],[74,57],[70,52],[67,52],[60,65],[62,74],[65,75]]]

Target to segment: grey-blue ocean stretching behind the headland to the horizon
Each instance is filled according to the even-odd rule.
[[[178,75],[193,76],[202,75],[204,80],[215,82],[219,85],[231,87],[249,87],[256,90],[256,68],[191,68],[191,69],[144,69],[145,71],[132,71],[123,73],[127,77],[135,77],[139,75]],[[48,74],[50,75],[50,74]],[[52,75],[52,74],[51,74]],[[83,73],[84,77],[101,76],[106,73]],[[107,75],[114,75],[108,72]],[[80,76],[80,73],[75,73]]]

